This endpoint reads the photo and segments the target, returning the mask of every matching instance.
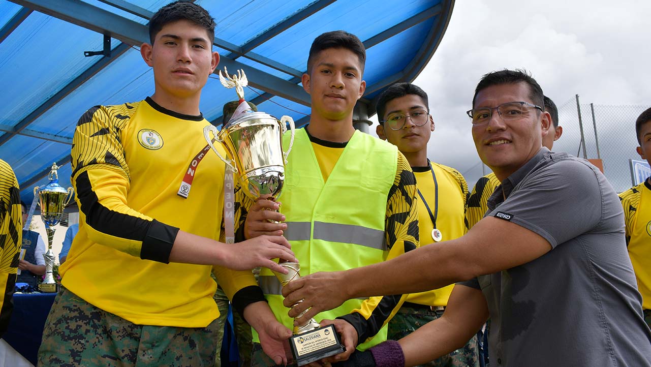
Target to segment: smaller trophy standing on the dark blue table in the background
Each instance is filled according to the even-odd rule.
[[[45,279],[38,284],[41,292],[57,292],[57,282],[52,275],[55,256],[52,253],[52,240],[54,239],[54,226],[61,222],[61,216],[66,205],[72,199],[72,187],[64,189],[59,185],[59,174],[57,163],[53,163],[49,171],[49,183],[43,187],[34,187],[34,196],[38,194],[38,206],[40,207],[41,219],[45,223],[48,232],[48,251],[43,254],[45,258]],[[67,198],[66,198],[67,197]]]

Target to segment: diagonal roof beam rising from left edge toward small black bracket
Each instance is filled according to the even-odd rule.
[[[97,74],[100,70],[104,69],[108,64],[115,61],[115,59],[117,59],[118,56],[122,55],[122,53],[124,53],[129,48],[130,46],[128,44],[120,44],[111,52],[113,54],[112,57],[102,57],[100,61],[95,62],[92,66],[90,66],[90,68],[86,69],[85,72],[81,73],[81,75],[79,75],[73,81],[68,83],[68,85],[66,85],[61,90],[59,90],[59,92],[57,92],[54,96],[51,96],[46,102],[38,106],[38,108],[32,111],[32,113],[27,115],[27,117],[23,118],[23,120],[18,122],[18,124],[14,126],[12,131],[9,131],[5,135],[2,135],[0,137],[0,145],[5,144],[9,139],[14,137],[14,135],[21,133],[21,131],[23,131],[23,129],[29,126],[29,124],[34,122],[36,118],[38,118],[40,115],[43,115],[46,111],[48,111],[48,109],[50,109],[55,104],[60,102],[66,96],[68,96],[68,94],[70,94],[73,90],[75,90],[80,85],[85,83],[88,79],[90,79],[93,75]]]

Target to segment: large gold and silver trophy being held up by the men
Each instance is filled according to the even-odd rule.
[[[224,68],[226,77],[219,71],[219,80],[226,88],[235,88],[240,98],[240,106],[230,121],[225,122],[221,131],[214,126],[204,128],[204,137],[210,148],[235,173],[239,174],[240,185],[244,193],[256,200],[261,195],[278,197],[283,189],[284,165],[294,144],[294,120],[283,116],[280,120],[263,112],[254,112],[244,100],[244,87],[248,85],[246,74],[238,70],[237,75],[230,76]],[[290,126],[290,144],[283,151],[283,134]],[[212,144],[210,132],[215,141],[221,143],[229,158],[221,156]],[[284,286],[300,277],[300,266],[294,262],[279,263],[289,271],[288,274],[273,272]],[[307,311],[306,311],[307,312]],[[314,360],[320,360],[346,350],[334,325],[321,327],[314,319],[294,327],[290,338],[290,347],[294,362],[303,366]]]

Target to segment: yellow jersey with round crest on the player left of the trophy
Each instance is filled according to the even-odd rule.
[[[72,146],[79,232],[61,266],[68,290],[137,324],[205,327],[217,318],[211,267],[167,264],[179,229],[221,234],[225,165],[208,152],[191,167],[207,125],[150,98],[81,116]],[[177,191],[191,168],[182,198]],[[255,286],[251,271],[215,267],[215,275],[231,299]]]

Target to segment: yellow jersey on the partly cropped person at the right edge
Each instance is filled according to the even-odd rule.
[[[651,309],[651,178],[619,195],[624,207],[626,245],[642,306]]]

